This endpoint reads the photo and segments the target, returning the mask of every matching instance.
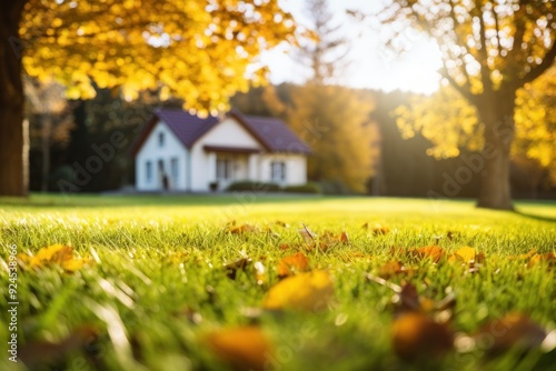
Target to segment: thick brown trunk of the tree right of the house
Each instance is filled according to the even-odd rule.
[[[514,210],[509,186],[510,149],[514,140],[515,92],[485,97],[478,107],[485,124],[484,170],[477,207]]]

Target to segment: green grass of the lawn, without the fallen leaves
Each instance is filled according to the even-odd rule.
[[[97,263],[75,274],[56,267],[18,272],[20,350],[36,341],[60,341],[83,325],[99,331],[99,340],[85,352],[66,352],[51,364],[56,370],[140,370],[140,365],[226,370],[203,337],[254,321],[245,310],[260,307],[269,287],[278,282],[276,267],[281,258],[297,252],[302,223],[317,234],[347,231],[350,244],[306,251],[314,269],[328,270],[334,278],[336,303],[329,311],[264,313],[256,319],[278,350],[271,370],[540,370],[554,364],[554,351],[507,352],[489,359],[478,347],[470,353],[454,351],[444,359],[406,363],[396,357],[390,340],[393,292],[366,279],[366,273],[376,273],[385,262],[401,259],[416,273],[408,279],[396,275],[390,279],[394,283],[408,280],[434,300],[447,290],[456,293],[450,325],[457,332],[473,333],[509,312],[526,313],[543,328],[554,329],[554,270],[543,264],[528,269],[509,257],[532,249],[556,252],[556,203],[518,202],[517,207],[519,212],[514,213],[477,210],[465,200],[249,193],[32,195],[23,201],[0,199],[0,251],[7,260],[11,244],[19,252],[36,253],[62,243],[80,257],[98,257]],[[226,233],[231,220],[255,224],[260,232]],[[380,223],[390,231],[375,235],[361,228],[364,223]],[[453,239],[446,238],[448,232]],[[437,240],[438,235],[445,237]],[[291,249],[279,249],[284,243]],[[474,247],[485,253],[486,263],[477,273],[467,274],[457,264],[411,261],[391,253],[393,247],[430,244],[448,253]],[[185,252],[179,262],[172,262],[176,252]],[[371,258],[359,258],[359,253]],[[244,255],[266,267],[268,278],[262,284],[252,270],[239,271],[236,280],[226,275],[222,265]],[[0,292],[8,298],[6,268],[0,265]],[[0,309],[6,313],[6,301]],[[191,321],[191,312],[202,321],[199,315]],[[118,335],[121,328],[126,337]],[[2,320],[3,344],[7,337]],[[0,368],[13,368],[2,353]]]

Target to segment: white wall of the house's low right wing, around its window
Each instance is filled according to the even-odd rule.
[[[272,179],[272,162],[285,164],[285,179]],[[266,153],[259,159],[259,179],[281,186],[307,183],[307,157],[295,153]]]

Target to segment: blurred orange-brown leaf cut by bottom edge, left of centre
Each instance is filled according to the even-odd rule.
[[[207,343],[234,370],[265,370],[274,353],[268,338],[255,325],[212,332]]]

